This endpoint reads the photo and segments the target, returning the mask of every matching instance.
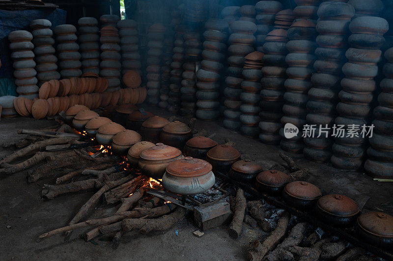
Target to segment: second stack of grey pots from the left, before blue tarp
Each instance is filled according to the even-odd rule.
[[[37,79],[39,85],[43,82],[59,79],[60,74],[57,72],[57,57],[53,45],[53,31],[51,30],[52,23],[46,19],[38,19],[30,22],[31,34],[33,35],[34,44],[34,60],[35,70],[37,71]]]

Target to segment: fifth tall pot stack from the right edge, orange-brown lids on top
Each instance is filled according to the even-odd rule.
[[[282,127],[282,106],[284,104],[284,82],[286,80],[285,57],[288,53],[288,37],[285,29],[275,29],[268,33],[263,44],[261,85],[261,112],[259,117],[259,140],[266,144],[280,144],[279,131]]]

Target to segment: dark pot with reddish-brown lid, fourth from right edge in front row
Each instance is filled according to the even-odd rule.
[[[291,178],[278,170],[265,170],[256,176],[255,186],[262,194],[279,195]]]

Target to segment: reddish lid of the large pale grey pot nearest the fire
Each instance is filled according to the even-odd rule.
[[[167,174],[179,178],[193,178],[205,175],[212,171],[209,162],[193,157],[185,157],[172,161],[167,166]]]

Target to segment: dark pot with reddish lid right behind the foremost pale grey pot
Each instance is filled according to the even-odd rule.
[[[217,146],[217,142],[214,140],[204,136],[198,136],[189,139],[183,151],[187,157],[206,159],[207,152],[215,146]]]

